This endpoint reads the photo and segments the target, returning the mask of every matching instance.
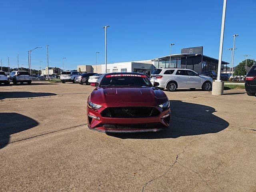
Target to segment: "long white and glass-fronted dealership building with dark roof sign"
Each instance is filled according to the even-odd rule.
[[[222,73],[228,62],[222,61]],[[110,73],[110,72],[141,72],[150,75],[155,68],[187,68],[192,69],[197,73],[206,70],[218,70],[218,59],[206,56],[203,54],[203,47],[183,48],[180,54],[172,54],[171,62],[170,55],[155,58],[152,60],[117,62],[98,65],[78,65],[77,70],[82,72],[94,73]]]

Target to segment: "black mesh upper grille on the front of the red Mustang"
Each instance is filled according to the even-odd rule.
[[[108,107],[101,112],[102,117],[113,118],[144,118],[160,115],[154,107]]]

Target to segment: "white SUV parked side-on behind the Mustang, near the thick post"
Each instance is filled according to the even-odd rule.
[[[212,78],[199,75],[190,69],[160,68],[154,69],[150,81],[158,82],[158,88],[175,91],[177,88],[202,88],[204,91],[212,89]]]

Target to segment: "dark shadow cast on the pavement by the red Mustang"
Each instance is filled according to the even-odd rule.
[[[122,139],[162,139],[178,138],[209,133],[217,133],[228,127],[229,123],[214,115],[215,109],[201,104],[170,100],[170,128],[160,132],[108,133]]]

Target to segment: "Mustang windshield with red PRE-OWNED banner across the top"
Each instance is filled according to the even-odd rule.
[[[152,86],[146,75],[116,74],[102,78],[100,86]]]

